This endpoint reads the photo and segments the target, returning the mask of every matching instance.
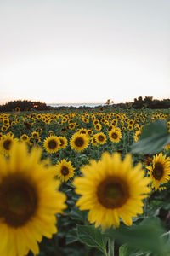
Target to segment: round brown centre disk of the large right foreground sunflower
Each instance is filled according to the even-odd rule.
[[[108,177],[99,183],[97,196],[106,208],[122,207],[129,197],[127,184],[121,179]]]

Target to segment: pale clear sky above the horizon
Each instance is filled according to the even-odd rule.
[[[0,1],[0,103],[170,98],[170,0]]]

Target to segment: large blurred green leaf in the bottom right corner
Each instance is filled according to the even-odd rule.
[[[159,256],[170,253],[170,247],[161,239],[163,233],[159,218],[146,218],[138,225],[133,224],[129,227],[122,225],[118,229],[105,230],[105,235],[111,239]]]

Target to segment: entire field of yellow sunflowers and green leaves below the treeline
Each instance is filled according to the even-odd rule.
[[[170,112],[0,114],[0,255],[170,255]]]

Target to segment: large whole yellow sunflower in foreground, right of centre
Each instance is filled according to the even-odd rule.
[[[83,177],[76,177],[73,184],[81,210],[89,210],[88,220],[102,229],[112,225],[118,227],[119,218],[131,225],[132,217],[143,213],[143,199],[150,193],[149,177],[144,177],[142,165],[132,166],[132,157],[127,154],[121,160],[118,153],[104,153],[101,160],[91,160],[90,165],[82,167]]]

